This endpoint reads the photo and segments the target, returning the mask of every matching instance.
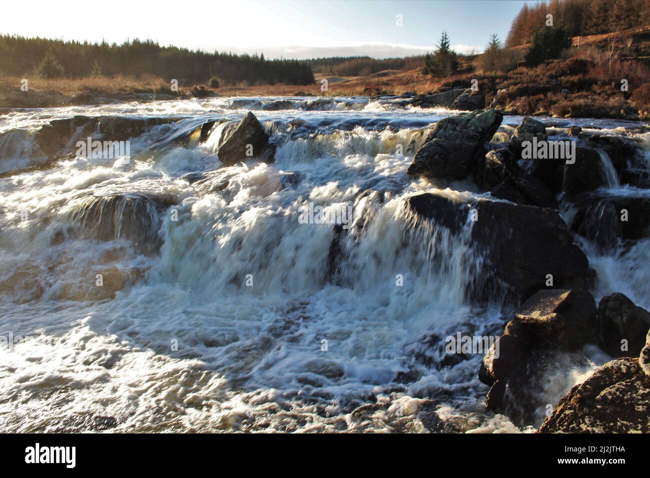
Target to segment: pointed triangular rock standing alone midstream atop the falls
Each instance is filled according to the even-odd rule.
[[[249,146],[252,146],[253,157],[262,157],[266,162],[272,162],[269,155],[271,148],[264,127],[250,111],[240,122],[228,124],[219,140],[217,155],[227,166],[235,165],[250,157]]]

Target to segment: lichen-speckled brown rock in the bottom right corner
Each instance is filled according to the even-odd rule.
[[[612,360],[571,388],[538,432],[650,432],[650,377],[636,358]]]

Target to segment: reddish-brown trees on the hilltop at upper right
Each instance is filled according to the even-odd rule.
[[[506,47],[525,45],[545,27],[546,16],[569,36],[612,33],[650,25],[650,0],[549,0],[519,10]]]

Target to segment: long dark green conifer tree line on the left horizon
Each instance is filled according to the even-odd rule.
[[[0,73],[40,74],[47,77],[149,74],[166,80],[196,83],[216,77],[226,85],[285,83],[309,85],[314,76],[309,63],[266,60],[264,55],[208,53],[153,40],[126,40],[122,44],[78,42],[0,35]]]

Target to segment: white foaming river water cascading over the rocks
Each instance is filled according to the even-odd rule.
[[[224,167],[218,124],[203,143],[171,140],[249,110],[277,145],[270,165]],[[448,360],[444,340],[498,336],[512,305],[466,297],[482,259],[469,226],[452,236],[404,208],[436,189],[489,196],[469,180],[406,175],[431,124],[459,113],[397,98],[217,98],[2,116],[0,335],[34,338],[0,350],[0,429],[517,431],[484,412],[482,355]],[[179,121],[132,139],[130,161],[47,163],[36,130],[75,114]],[[542,120],[558,132],[639,126]],[[520,123],[506,116],[497,136]],[[601,159],[603,194],[644,194]],[[348,235],[301,224],[309,202],[353,206]],[[572,211],[562,203],[565,220]],[[620,291],[650,306],[648,239],[608,250],[577,240],[597,299]],[[607,359],[590,354],[558,363],[542,401]]]

